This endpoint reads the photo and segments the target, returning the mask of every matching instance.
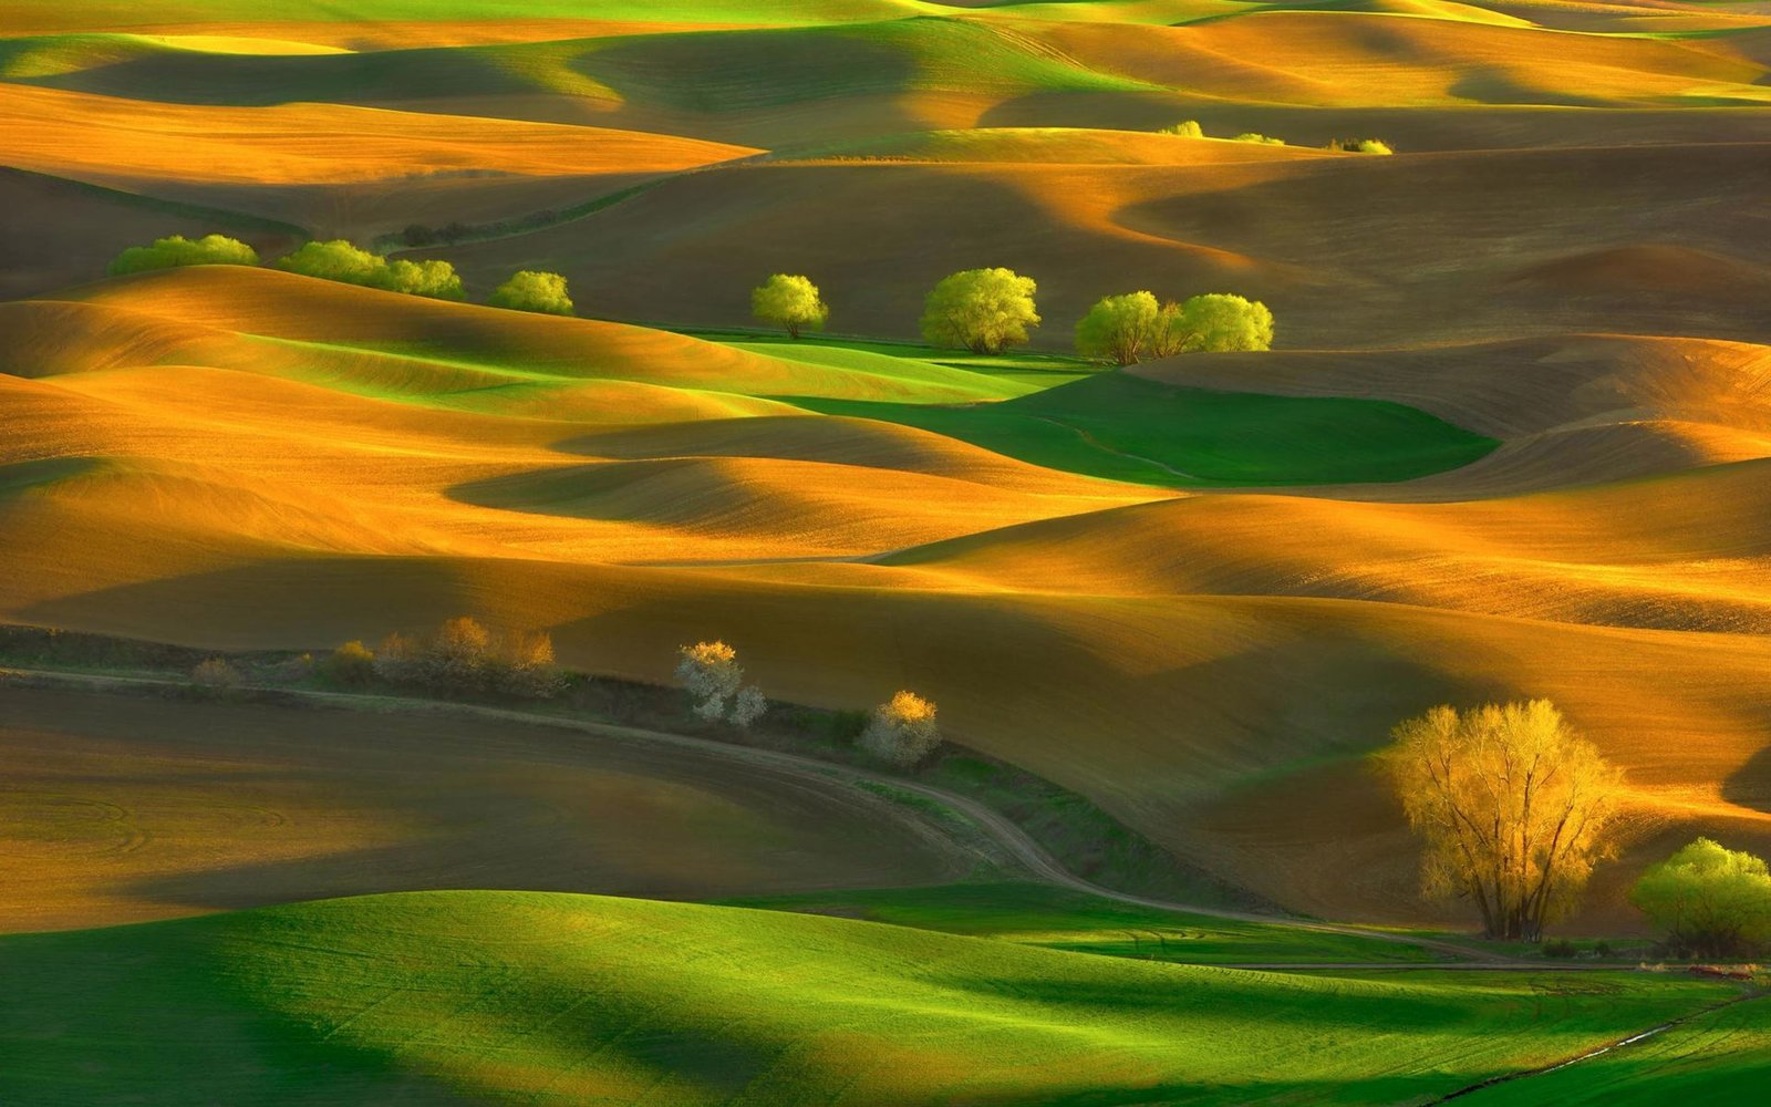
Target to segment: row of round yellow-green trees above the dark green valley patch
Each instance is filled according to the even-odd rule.
[[[919,328],[933,345],[1001,354],[1040,326],[1040,287],[1013,269],[965,269],[930,289]],[[831,317],[818,285],[776,273],[751,290],[751,314],[790,338],[824,329]],[[1264,303],[1211,292],[1158,303],[1151,292],[1103,296],[1077,322],[1077,351],[1098,361],[1135,365],[1183,351],[1257,351],[1273,345],[1273,314]]]

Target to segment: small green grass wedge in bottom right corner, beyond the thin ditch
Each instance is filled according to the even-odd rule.
[[[1730,1004],[1590,1061],[1472,1095],[1470,1107],[1759,1103],[1771,1089],[1771,997]]]

